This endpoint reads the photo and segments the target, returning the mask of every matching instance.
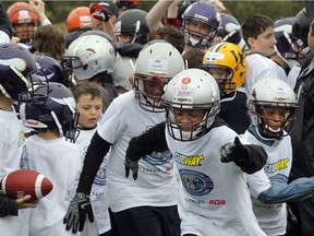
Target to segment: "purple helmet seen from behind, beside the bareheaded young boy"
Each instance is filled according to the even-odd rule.
[[[25,126],[37,131],[57,129],[59,137],[65,137],[74,142],[78,111],[70,90],[63,84],[51,82],[48,90],[46,85],[37,85],[35,95],[41,99],[33,99],[22,104],[20,108],[20,115]]]

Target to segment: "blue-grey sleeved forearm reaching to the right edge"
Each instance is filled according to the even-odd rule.
[[[314,193],[314,178],[299,178],[287,185],[275,182],[271,187],[262,191],[257,199],[264,203],[275,204],[293,202],[312,197]]]

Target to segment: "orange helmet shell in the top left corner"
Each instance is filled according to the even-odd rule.
[[[7,12],[12,24],[33,22],[37,25],[39,22],[38,15],[26,2],[15,2],[8,8]]]

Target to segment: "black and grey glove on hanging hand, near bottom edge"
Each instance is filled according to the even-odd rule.
[[[94,214],[89,197],[83,192],[76,192],[70,202],[67,214],[63,219],[63,223],[67,224],[65,229],[70,231],[72,227],[73,234],[77,232],[77,228],[80,232],[82,232],[84,228],[86,214],[88,215],[89,222],[94,222]]]

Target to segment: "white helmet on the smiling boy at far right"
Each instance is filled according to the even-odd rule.
[[[290,85],[275,78],[257,81],[252,87],[247,103],[251,123],[258,128],[262,137],[267,139],[280,139],[285,134],[283,128],[295,119],[295,108],[299,105]],[[262,114],[265,107],[286,108],[286,118],[279,129],[275,130],[266,125],[267,117]]]

